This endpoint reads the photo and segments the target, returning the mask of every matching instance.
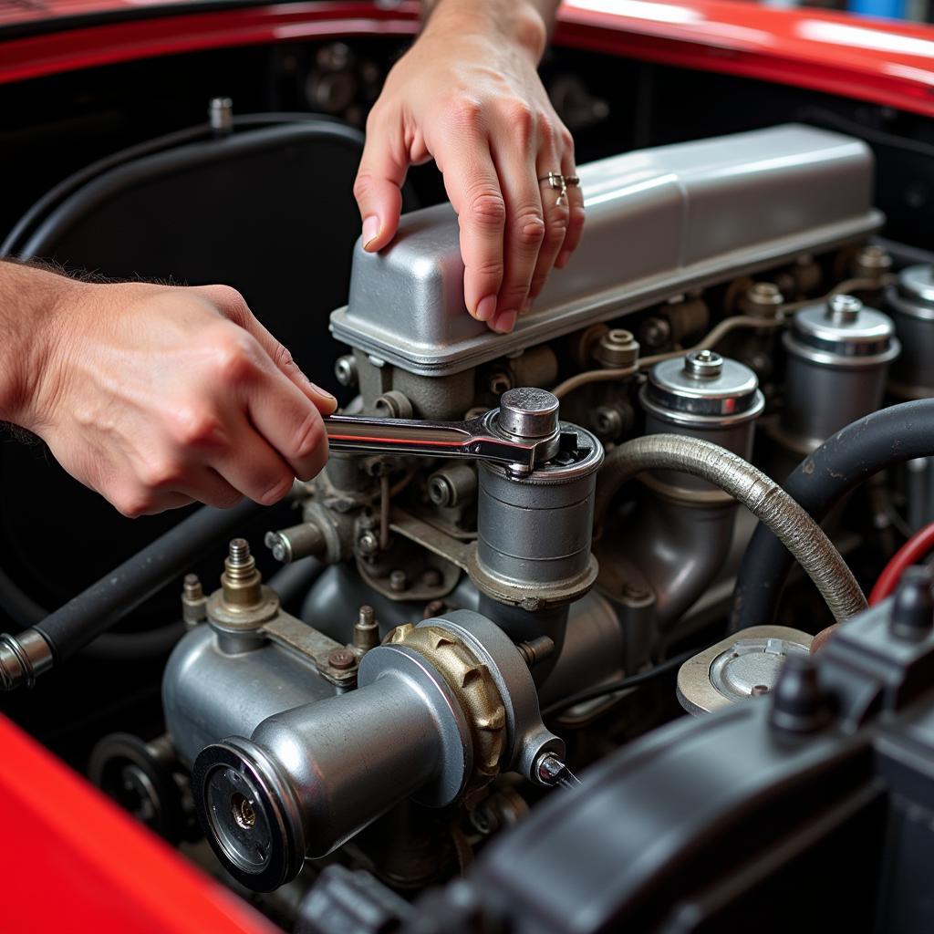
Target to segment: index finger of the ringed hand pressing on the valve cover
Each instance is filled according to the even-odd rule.
[[[458,215],[464,262],[464,304],[480,321],[496,316],[502,286],[506,205],[481,127],[449,128],[434,153],[445,190]]]

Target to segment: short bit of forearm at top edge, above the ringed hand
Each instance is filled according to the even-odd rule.
[[[531,51],[537,62],[560,0],[422,0],[425,21],[456,22],[465,29],[479,28],[515,39]],[[427,26],[426,26],[427,28]]]

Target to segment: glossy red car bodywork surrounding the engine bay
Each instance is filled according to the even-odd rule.
[[[49,0],[0,9],[0,83],[180,52],[414,35],[417,3],[186,9]],[[729,0],[573,0],[554,43],[830,92],[934,117],[934,28]],[[273,928],[0,716],[0,931]]]

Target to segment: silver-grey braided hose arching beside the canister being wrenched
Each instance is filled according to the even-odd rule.
[[[866,609],[856,578],[824,531],[771,477],[725,447],[677,434],[649,434],[614,448],[597,481],[594,515],[601,522],[619,488],[645,470],[676,470],[725,492],[778,536],[842,621]]]

